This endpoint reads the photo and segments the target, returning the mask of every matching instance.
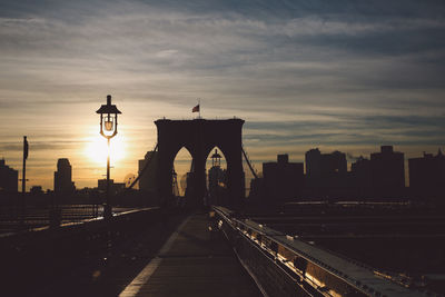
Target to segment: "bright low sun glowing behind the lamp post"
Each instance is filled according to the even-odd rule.
[[[122,137],[118,135],[110,140],[110,151],[108,151],[107,139],[100,135],[91,137],[87,141],[85,152],[91,161],[101,165],[107,164],[107,156],[110,154],[111,164],[116,164],[125,158]]]

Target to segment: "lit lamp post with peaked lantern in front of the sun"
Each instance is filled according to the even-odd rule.
[[[100,115],[100,135],[107,138],[107,190],[106,202],[103,205],[103,217],[110,219],[112,217],[110,202],[110,139],[118,133],[118,115],[122,113],[119,109],[111,105],[111,95],[107,96],[107,105],[100,106],[96,111]]]

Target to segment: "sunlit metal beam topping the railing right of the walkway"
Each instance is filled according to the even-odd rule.
[[[317,269],[333,276],[339,284],[354,288],[365,296],[418,296],[406,287],[402,287],[388,279],[382,278],[372,267],[362,266],[354,260],[334,255],[293,236],[284,235],[267,226],[249,219],[234,217],[229,209],[214,207],[221,222],[230,226],[251,244],[261,248],[269,257],[286,266],[301,279],[305,279],[322,296],[342,295],[342,286],[337,281],[325,281],[299,269],[298,261],[310,263]],[[274,242],[274,244],[271,244]],[[328,284],[329,283],[329,284]]]

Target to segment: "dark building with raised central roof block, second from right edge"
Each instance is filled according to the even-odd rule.
[[[370,179],[378,197],[399,198],[405,189],[405,159],[393,146],[382,146],[380,152],[370,154]]]

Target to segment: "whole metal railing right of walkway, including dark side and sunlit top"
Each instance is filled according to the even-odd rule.
[[[268,296],[419,296],[326,250],[214,207],[218,226]]]

